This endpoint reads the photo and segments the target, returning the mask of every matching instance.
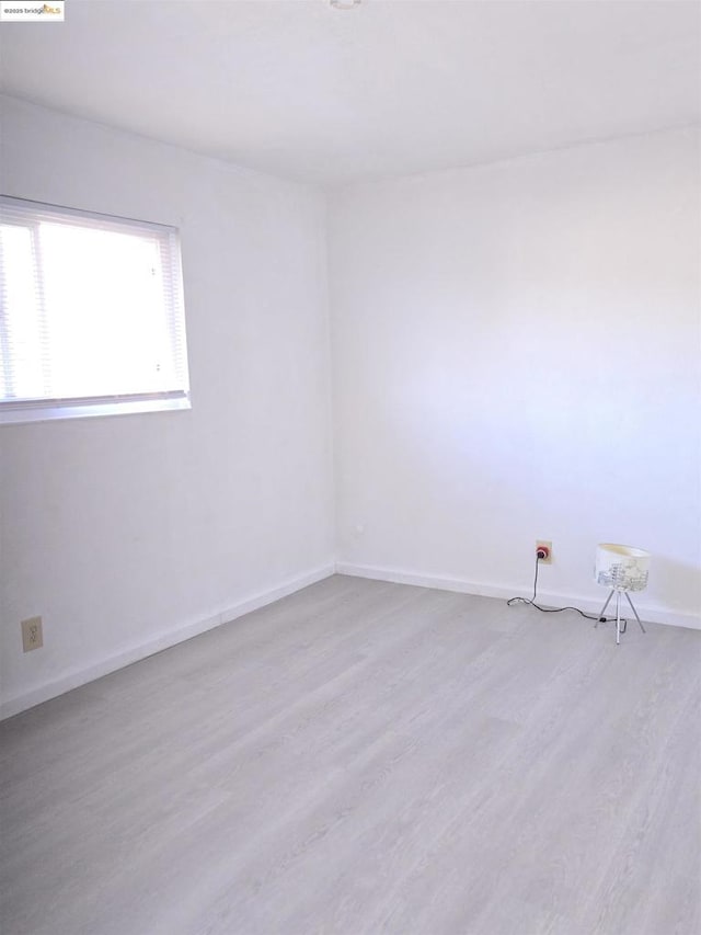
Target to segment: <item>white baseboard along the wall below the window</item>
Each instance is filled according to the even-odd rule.
[[[125,665],[130,665],[133,662],[138,662],[140,659],[146,659],[148,655],[153,655],[156,652],[161,652],[163,649],[169,649],[171,646],[176,646],[179,642],[184,642],[222,624],[235,620],[238,617],[250,614],[252,611],[257,611],[260,607],[265,607],[267,604],[273,604],[275,601],[279,601],[280,597],[287,597],[288,594],[294,594],[309,584],[314,584],[317,581],[329,578],[334,571],[335,568],[333,565],[325,565],[313,569],[299,578],[284,581],[271,591],[254,594],[245,601],[241,601],[232,607],[221,611],[219,614],[166,630],[146,642],[138,643],[115,655],[111,655],[108,659],[102,659],[85,669],[73,670],[61,679],[48,682],[22,695],[16,695],[14,698],[10,698],[0,705],[0,720],[20,714],[20,711],[25,711],[27,708],[33,708],[35,705],[41,705],[42,702],[56,698],[58,695],[64,695],[66,692],[70,692],[71,688],[78,688],[80,685],[93,682],[95,679],[101,679],[111,672],[116,672],[117,669],[124,669]]]

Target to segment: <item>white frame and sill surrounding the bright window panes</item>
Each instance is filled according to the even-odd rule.
[[[33,241],[36,230],[41,224],[42,216],[50,219],[51,216],[60,219],[74,217],[77,221],[87,221],[83,227],[95,227],[97,229],[131,230],[135,235],[156,235],[159,240],[159,249],[166,263],[162,264],[163,298],[166,303],[169,318],[169,346],[172,363],[176,373],[177,386],[168,390],[145,392],[116,392],[106,396],[85,395],[79,397],[33,397],[13,398],[0,397],[0,426],[16,425],[27,422],[45,422],[58,419],[79,419],[85,417],[126,415],[146,412],[164,412],[175,410],[187,410],[192,408],[189,392],[189,376],[187,362],[187,340],[185,326],[185,308],[183,296],[183,274],[181,256],[180,230],[171,225],[157,224],[137,218],[127,218],[118,215],[110,215],[100,212],[82,210],[80,208],[54,205],[47,202],[21,198],[12,195],[0,194],[0,220],[2,224],[18,224],[15,217],[3,216],[4,208],[14,209],[25,214],[24,227],[32,231]],[[34,244],[33,244],[34,246]],[[165,251],[165,253],[163,253]],[[43,278],[41,273],[41,253],[35,248],[36,284],[43,290]],[[0,287],[2,286],[2,269],[0,267]],[[0,293],[1,295],[1,293]],[[41,310],[44,313],[43,297],[39,299]],[[43,327],[39,323],[39,328]],[[45,327],[45,324],[44,324]],[[5,360],[11,361],[10,352],[3,345],[7,338],[7,328],[0,321],[0,353],[5,354]],[[50,352],[50,342],[47,342]]]

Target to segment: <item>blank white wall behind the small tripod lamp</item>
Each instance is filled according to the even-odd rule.
[[[330,206],[341,568],[600,606],[651,549],[650,619],[700,586],[699,138],[548,152]]]

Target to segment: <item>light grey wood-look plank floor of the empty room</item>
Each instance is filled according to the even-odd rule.
[[[0,726],[0,931],[697,935],[700,650],[314,584]]]

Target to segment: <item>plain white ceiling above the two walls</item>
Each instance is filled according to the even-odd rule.
[[[67,0],[2,23],[5,93],[333,186],[701,119],[677,0]]]

